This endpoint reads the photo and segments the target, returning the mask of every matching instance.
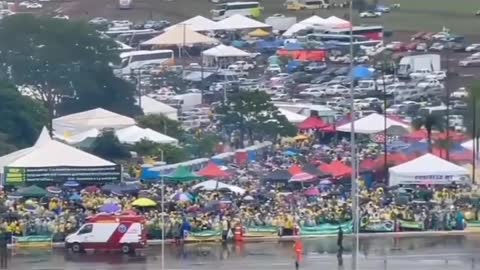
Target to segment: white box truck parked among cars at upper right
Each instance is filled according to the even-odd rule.
[[[440,55],[438,54],[420,54],[404,56],[400,59],[397,75],[399,78],[407,79],[410,73],[419,70],[440,71]]]

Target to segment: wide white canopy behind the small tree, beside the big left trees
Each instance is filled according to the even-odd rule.
[[[65,115],[53,119],[53,130],[58,135],[69,137],[93,128],[119,129],[135,125],[133,118],[102,108]]]

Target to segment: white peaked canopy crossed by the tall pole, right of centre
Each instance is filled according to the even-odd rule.
[[[388,116],[387,116],[387,125],[385,126],[384,119],[385,119],[385,116],[378,113],[372,113],[363,118],[360,118],[355,121],[355,133],[373,134],[380,131],[384,131],[385,128],[388,129],[392,126],[409,128],[408,124],[392,120],[388,118]],[[350,132],[351,124],[346,123],[344,125],[341,125],[337,127],[337,131]]]

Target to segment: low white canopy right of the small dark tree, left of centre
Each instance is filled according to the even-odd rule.
[[[126,144],[135,144],[141,140],[148,140],[156,143],[177,144],[178,140],[149,128],[131,126],[117,130],[115,134],[118,140]]]

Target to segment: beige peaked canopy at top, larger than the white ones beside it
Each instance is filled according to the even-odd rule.
[[[153,46],[192,46],[198,44],[216,44],[218,40],[195,32],[189,26],[177,25],[142,45]]]

